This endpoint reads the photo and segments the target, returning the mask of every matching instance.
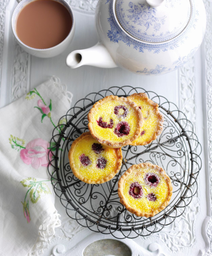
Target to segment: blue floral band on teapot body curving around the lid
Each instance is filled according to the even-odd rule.
[[[121,30],[113,16],[112,0],[106,0],[105,4],[109,4],[110,17],[108,18],[108,22],[110,23],[111,30],[108,30],[107,34],[110,41],[114,43],[119,43],[119,41],[122,41],[129,47],[132,46],[135,50],[138,50],[139,52],[144,52],[144,50],[148,50],[148,52],[159,54],[161,51],[166,52],[168,50],[174,50],[175,48],[179,47],[179,45],[184,43],[184,39],[186,39],[186,33],[190,30],[190,27],[193,26],[194,16],[192,16],[192,20],[189,26],[186,28],[185,32],[181,33],[181,35],[176,37],[176,39],[161,44],[146,44],[143,42],[136,41],[131,37],[128,37],[128,35],[126,35],[126,33],[124,33]]]

